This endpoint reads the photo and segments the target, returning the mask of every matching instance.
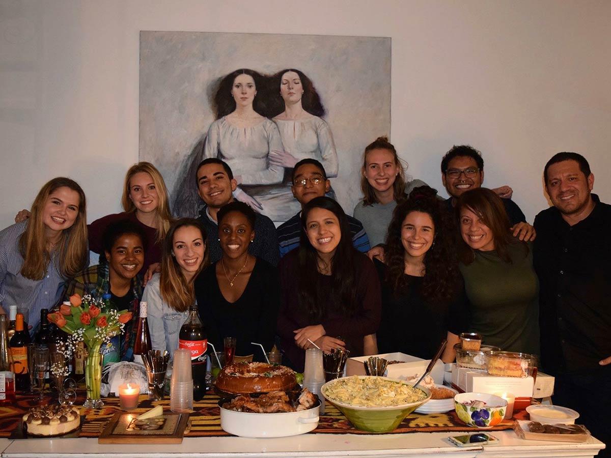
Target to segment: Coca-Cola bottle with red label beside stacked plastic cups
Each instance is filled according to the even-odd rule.
[[[203,330],[196,304],[189,307],[189,319],[180,328],[178,348],[185,348],[191,352],[193,399],[194,401],[200,401],[206,393],[208,337]]]

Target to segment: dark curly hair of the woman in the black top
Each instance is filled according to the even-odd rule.
[[[397,205],[386,236],[386,282],[395,294],[404,293],[410,277],[405,272],[405,249],[401,242],[401,227],[406,216],[412,211],[428,214],[434,224],[434,239],[424,258],[426,267],[422,279],[422,296],[431,302],[449,302],[461,288],[458,270],[458,256],[454,250],[454,225],[437,191],[428,186],[419,186],[409,195],[408,200]]]

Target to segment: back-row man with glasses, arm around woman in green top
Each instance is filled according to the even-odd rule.
[[[484,181],[484,159],[480,151],[469,145],[452,147],[441,160],[441,181],[450,194],[450,198],[445,201],[448,211],[453,212],[456,199],[469,189],[481,187]],[[535,230],[526,222],[519,206],[508,197],[511,195],[507,193],[508,187],[503,186],[492,191],[499,195],[505,205],[513,236],[525,241],[534,240]]]

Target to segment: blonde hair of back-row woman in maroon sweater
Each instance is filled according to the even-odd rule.
[[[155,225],[157,227],[157,241],[161,242],[166,237],[167,231],[172,221],[174,221],[174,218],[172,218],[172,214],[170,213],[170,199],[167,195],[166,182],[163,181],[163,176],[161,176],[159,170],[155,168],[155,165],[150,162],[138,162],[130,167],[125,174],[121,204],[123,205],[123,209],[127,212],[136,211],[136,206],[130,198],[130,180],[132,176],[140,172],[148,173],[148,175],[153,178],[153,184],[155,184],[155,191],[159,198],[159,203],[156,208],[157,216]]]

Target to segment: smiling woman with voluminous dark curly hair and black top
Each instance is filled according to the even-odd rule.
[[[393,213],[386,264],[375,260],[382,283],[378,347],[423,359],[448,340],[442,360],[454,360],[454,344],[467,328],[463,280],[453,250],[453,225],[436,191],[420,186]]]

